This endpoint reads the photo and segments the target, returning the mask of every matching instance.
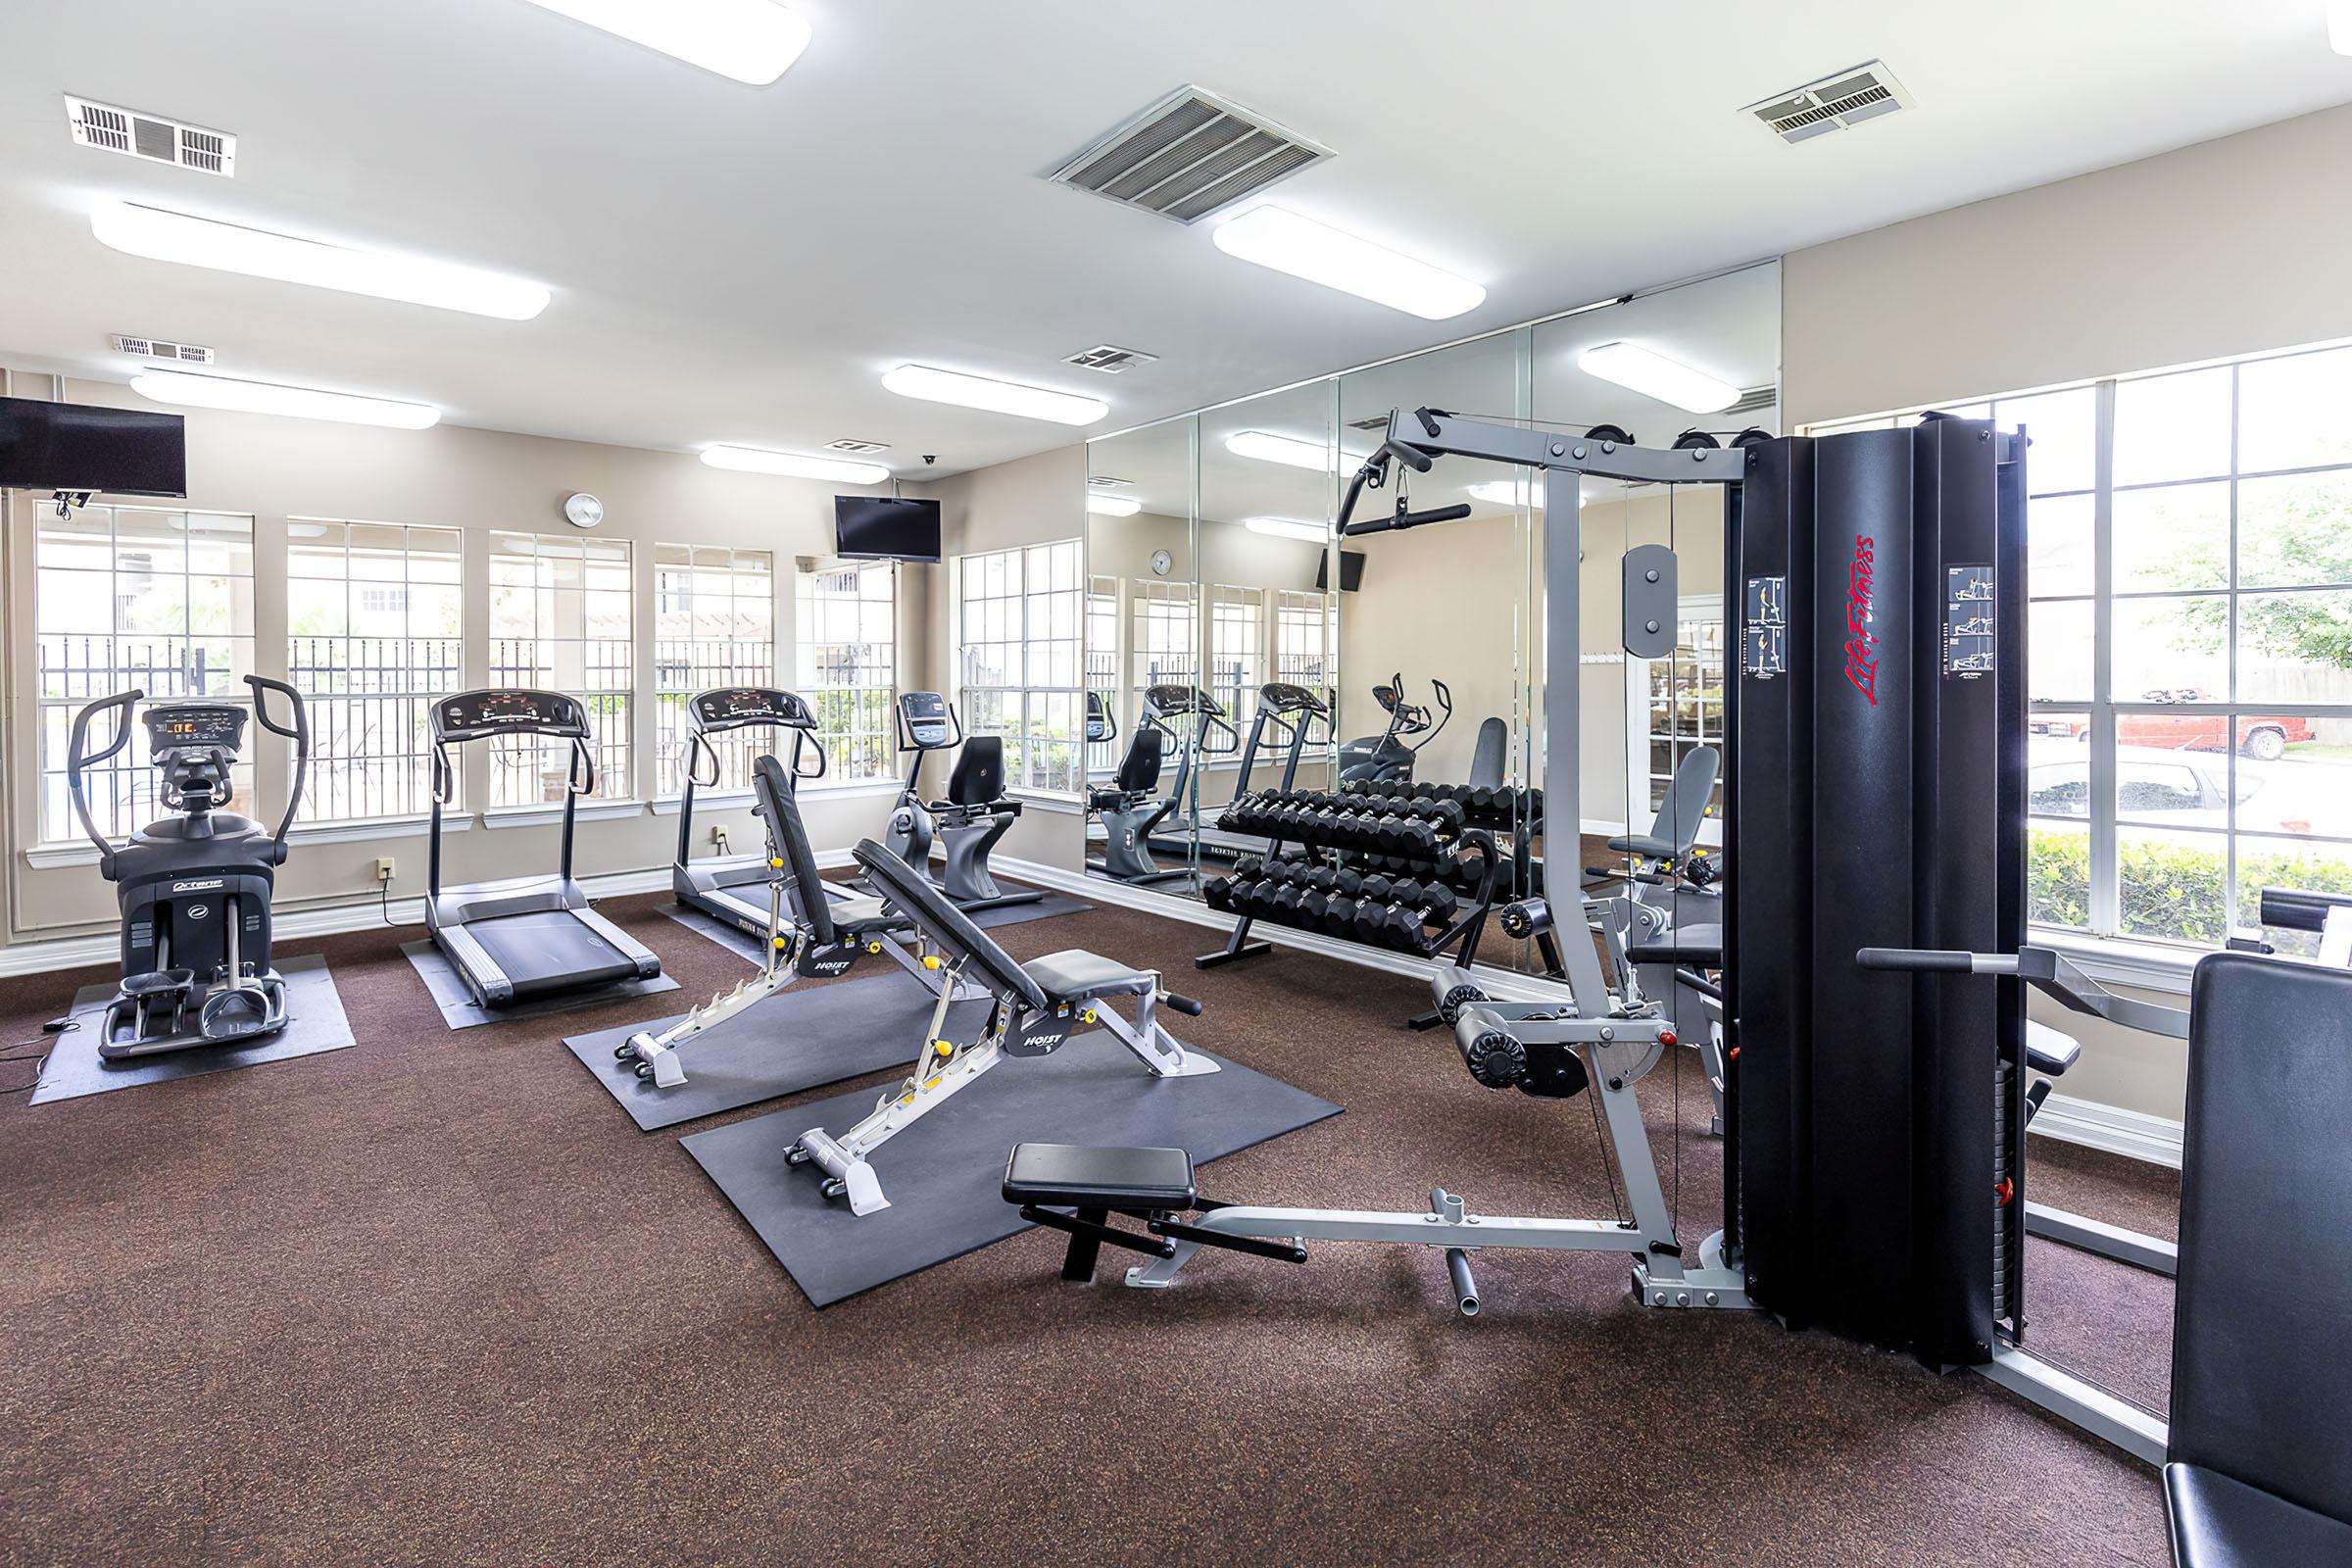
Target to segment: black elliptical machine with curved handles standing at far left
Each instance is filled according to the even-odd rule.
[[[310,778],[310,715],[285,682],[247,675],[254,717],[294,741],[294,788],[278,832],[226,811],[245,750],[235,703],[155,703],[141,717],[148,762],[162,773],[162,804],[179,816],[148,823],[120,849],[89,816],[82,773],[132,741],[132,712],[146,691],[118,691],[73,715],[66,790],[82,832],[99,846],[99,875],[122,907],[122,983],[106,1004],[99,1058],[120,1063],[193,1046],[261,1039],[287,1027],[287,983],[270,966],[270,889],[287,858],[287,827]],[[270,717],[266,693],[285,696],[292,722]],[[115,712],[113,741],[89,752],[89,722]]]

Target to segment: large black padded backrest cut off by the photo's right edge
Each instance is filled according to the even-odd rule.
[[[2352,973],[2199,959],[2166,1458],[2352,1523],[2347,1124]],[[2291,1258],[2305,1284],[2249,1258]]]

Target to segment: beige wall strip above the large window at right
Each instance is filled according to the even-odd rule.
[[[1797,423],[2352,336],[2352,106],[1790,252]]]

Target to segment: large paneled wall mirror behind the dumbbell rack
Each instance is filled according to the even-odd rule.
[[[1611,346],[1736,397],[1635,390]],[[1221,825],[1240,795],[1411,780],[1498,785],[1512,802],[1494,823],[1503,891],[1526,893],[1548,849],[1578,877],[1623,865],[1637,851],[1609,839],[1649,835],[1677,771],[1719,806],[1719,780],[1698,790],[1724,724],[1717,487],[1588,480],[1573,524],[1552,531],[1573,559],[1550,559],[1541,477],[1503,463],[1397,468],[1355,512],[1468,505],[1458,522],[1338,541],[1334,520],[1392,409],[1729,444],[1778,433],[1778,350],[1780,275],[1764,263],[1091,442],[1089,870],[1197,896],[1265,846]],[[1663,658],[1623,644],[1621,564],[1644,543],[1677,564]],[[1548,590],[1578,611],[1578,689],[1550,705]],[[1578,733],[1562,790],[1543,776],[1548,717]],[[1548,844],[1545,818],[1573,827]],[[1700,851],[1722,837],[1710,818],[1682,827]],[[1541,964],[1494,931],[1479,957]]]

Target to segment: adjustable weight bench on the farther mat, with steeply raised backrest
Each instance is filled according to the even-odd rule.
[[[659,1034],[637,1030],[614,1046],[616,1060],[637,1058],[635,1072],[654,1088],[677,1088],[687,1081],[687,1067],[677,1056],[696,1034],[715,1030],[739,1013],[748,1013],[793,980],[816,976],[830,980],[849,973],[858,957],[887,952],[901,969],[924,983],[946,1009],[950,1001],[976,999],[981,992],[957,987],[946,973],[946,961],[917,943],[908,952],[894,938],[915,933],[915,922],[887,907],[880,898],[828,898],[826,882],[816,872],[816,851],[809,849],[809,830],[800,820],[800,802],[783,764],[774,757],[755,757],[750,769],[753,816],[767,823],[767,943],[760,952],[760,973],[741,980],[731,990],[717,992],[691,1013]]]

